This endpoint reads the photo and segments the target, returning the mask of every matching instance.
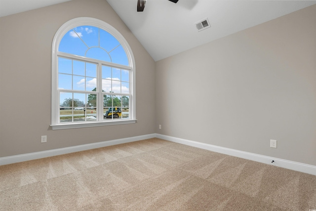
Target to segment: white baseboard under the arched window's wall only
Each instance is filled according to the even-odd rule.
[[[102,142],[84,144],[84,145],[73,146],[73,147],[65,147],[65,148],[60,148],[60,149],[53,149],[53,150],[46,150],[46,151],[34,152],[34,153],[28,153],[28,154],[22,154],[22,155],[2,157],[0,158],[0,166],[24,162],[24,161],[30,161],[30,160],[40,159],[40,158],[47,158],[47,157],[56,156],[56,155],[64,155],[68,153],[79,152],[79,151],[84,151],[84,150],[89,150],[89,149],[96,149],[100,147],[107,147],[107,146],[113,146],[117,144],[129,143],[133,141],[140,141],[140,140],[155,138],[155,137],[156,137],[156,134],[153,133],[153,134],[140,135],[140,136],[134,136],[134,137],[129,137],[129,138],[115,139],[111,141],[102,141]]]

